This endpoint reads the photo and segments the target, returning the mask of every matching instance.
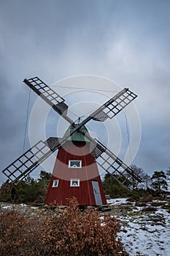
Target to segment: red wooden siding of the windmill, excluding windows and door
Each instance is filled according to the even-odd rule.
[[[76,143],[76,145],[73,146],[72,141],[66,141],[64,146],[59,148],[45,203],[67,205],[69,198],[76,197],[82,206],[96,205],[93,180],[98,181],[102,203],[106,204],[98,167],[94,157],[89,153],[89,144],[83,146],[83,143]],[[69,168],[69,160],[81,160],[82,167]],[[80,187],[70,187],[71,178],[79,178]],[[58,187],[53,187],[55,179],[58,179]]]

